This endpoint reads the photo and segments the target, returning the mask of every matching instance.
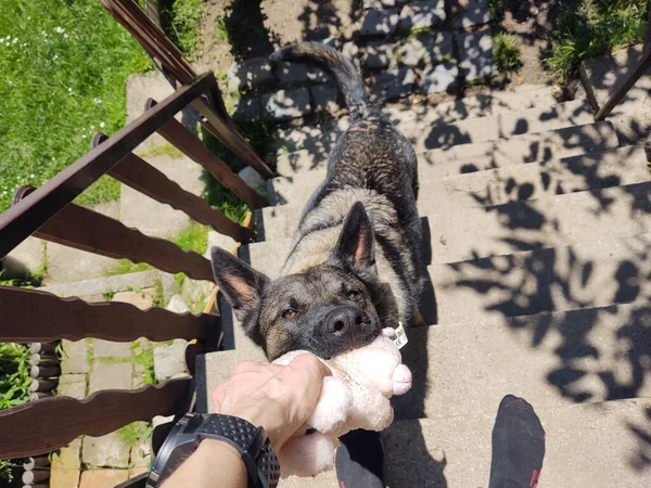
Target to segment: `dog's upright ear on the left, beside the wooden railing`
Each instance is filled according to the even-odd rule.
[[[219,247],[210,249],[210,257],[213,273],[219,290],[233,308],[235,317],[243,320],[260,304],[263,291],[269,283],[269,279],[239,257]]]

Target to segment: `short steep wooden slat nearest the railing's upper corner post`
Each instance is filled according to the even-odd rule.
[[[149,99],[148,108],[156,106],[156,101]],[[215,156],[204,143],[176,118],[170,118],[161,128],[158,133],[169,143],[186,154],[189,158],[206,168],[221,184],[242,198],[254,208],[268,205],[265,197],[259,195],[238,176],[220,158]]]

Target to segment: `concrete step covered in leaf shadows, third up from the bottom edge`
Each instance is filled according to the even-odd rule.
[[[649,299],[650,256],[648,233],[586,235],[571,246],[433,265],[421,309],[430,323],[456,323]]]

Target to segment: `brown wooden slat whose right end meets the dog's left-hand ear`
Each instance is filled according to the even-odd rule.
[[[169,273],[183,272],[194,280],[215,280],[210,261],[203,256],[75,204],[68,204],[34,235],[114,259],[148,262]]]

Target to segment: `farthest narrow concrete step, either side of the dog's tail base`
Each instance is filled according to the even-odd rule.
[[[437,105],[385,104],[382,111],[406,137],[413,137],[422,132],[422,127],[452,124],[462,119],[523,111],[534,106],[550,107],[557,103],[550,87],[523,86],[513,91],[486,92]],[[322,121],[316,127],[282,128],[277,131],[269,149],[277,152],[279,157],[302,149],[319,149],[329,145],[336,134],[348,127],[348,124],[349,117],[345,115]],[[329,134],[329,132],[333,133]]]

